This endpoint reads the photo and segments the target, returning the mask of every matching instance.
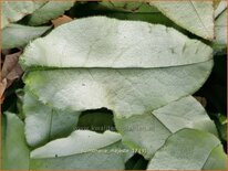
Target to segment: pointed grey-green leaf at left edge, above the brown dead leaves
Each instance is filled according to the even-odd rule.
[[[2,31],[2,47],[13,49],[27,45],[30,41],[41,36],[51,26],[24,26],[20,24],[9,24]]]

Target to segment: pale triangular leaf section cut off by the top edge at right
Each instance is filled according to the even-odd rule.
[[[213,1],[152,1],[151,4],[189,32],[210,41],[214,39]]]

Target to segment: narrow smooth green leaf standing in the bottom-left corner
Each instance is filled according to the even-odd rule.
[[[15,114],[6,113],[2,125],[2,170],[29,170],[29,149],[23,122]]]

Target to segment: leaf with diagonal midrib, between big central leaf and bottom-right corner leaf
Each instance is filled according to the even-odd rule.
[[[123,136],[123,143],[146,159],[165,143],[166,139],[183,128],[195,128],[217,135],[215,124],[203,106],[191,96],[131,118],[115,117],[115,126]]]

